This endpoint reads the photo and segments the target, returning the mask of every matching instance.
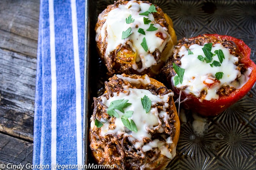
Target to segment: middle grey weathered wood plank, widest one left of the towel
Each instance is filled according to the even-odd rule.
[[[0,132],[33,141],[36,59],[0,49]]]

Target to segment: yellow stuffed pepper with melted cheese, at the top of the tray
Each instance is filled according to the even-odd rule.
[[[110,74],[159,73],[177,43],[173,22],[147,1],[118,0],[98,16],[97,51]]]

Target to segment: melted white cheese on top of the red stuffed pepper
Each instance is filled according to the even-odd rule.
[[[251,69],[248,68],[246,73],[241,75],[235,65],[238,62],[238,58],[230,54],[227,48],[220,43],[212,46],[211,52],[215,54],[215,50],[221,49],[225,59],[220,63],[220,66],[211,66],[210,64],[214,60],[219,62],[218,55],[214,55],[210,63],[206,63],[205,60],[199,60],[199,55],[206,57],[202,50],[203,47],[197,44],[191,45],[189,49],[193,54],[188,54],[188,49],[185,46],[180,48],[179,56],[183,56],[180,67],[184,68],[185,71],[183,81],[176,85],[177,88],[184,89],[185,93],[191,93],[195,96],[199,96],[201,91],[206,90],[207,95],[204,99],[211,100],[218,99],[217,91],[222,85],[230,85],[239,89],[248,81]],[[215,74],[221,72],[223,76],[218,81]],[[174,83],[174,77],[172,77],[172,81]]]

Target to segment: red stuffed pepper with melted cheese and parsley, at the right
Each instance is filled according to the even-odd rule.
[[[230,36],[184,38],[163,73],[184,108],[215,116],[245,96],[256,82],[250,53],[242,40]]]

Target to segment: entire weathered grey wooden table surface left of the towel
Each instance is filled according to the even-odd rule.
[[[0,164],[33,160],[39,5],[0,1]]]

